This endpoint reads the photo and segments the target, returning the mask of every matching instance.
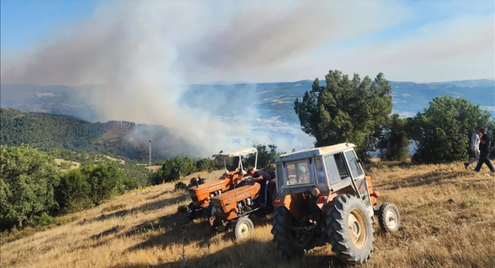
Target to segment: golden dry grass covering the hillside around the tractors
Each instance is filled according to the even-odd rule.
[[[375,251],[360,267],[494,267],[495,179],[461,163],[380,164],[372,169],[381,201],[396,203],[402,227],[375,227]],[[486,169],[486,168],[485,168]],[[221,172],[207,174],[217,178]],[[195,174],[196,175],[196,174]],[[203,174],[201,174],[203,176]],[[206,177],[206,176],[204,176]],[[189,178],[185,178],[185,181]],[[212,236],[204,220],[187,225],[178,204],[188,196],[173,184],[136,190],[91,210],[72,223],[1,245],[1,267],[334,267],[330,246],[288,261],[260,223],[247,241]],[[184,241],[183,241],[184,240]]]

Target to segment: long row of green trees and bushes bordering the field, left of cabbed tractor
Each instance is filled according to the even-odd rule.
[[[258,167],[270,166],[277,155],[277,147],[262,144],[255,147],[259,151]],[[62,162],[58,166],[55,157],[80,161],[82,166],[68,170],[70,164]],[[193,160],[176,156],[163,161],[162,168],[148,178],[146,167],[138,165],[137,161],[125,164],[108,159],[95,162],[99,157],[102,156],[68,150],[44,152],[28,144],[0,145],[1,229],[47,225],[55,216],[98,206],[112,196],[139,186],[174,182],[195,172],[224,168],[219,158]],[[254,155],[243,161],[244,167],[252,167]],[[238,163],[236,158],[226,161],[230,170],[237,168]]]

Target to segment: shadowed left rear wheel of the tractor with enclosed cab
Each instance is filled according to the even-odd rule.
[[[302,257],[315,247],[313,236],[310,232],[298,227],[296,218],[285,207],[275,209],[272,219],[273,242],[277,250],[287,258]]]

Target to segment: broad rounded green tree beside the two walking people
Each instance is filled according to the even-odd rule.
[[[413,161],[445,163],[466,160],[470,138],[477,126],[487,126],[490,113],[466,99],[438,96],[428,109],[408,123],[408,132],[416,141]]]

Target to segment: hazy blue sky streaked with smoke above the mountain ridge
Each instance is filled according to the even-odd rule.
[[[140,2],[1,0],[2,83],[108,83],[146,49],[181,83],[495,77],[494,0]]]

